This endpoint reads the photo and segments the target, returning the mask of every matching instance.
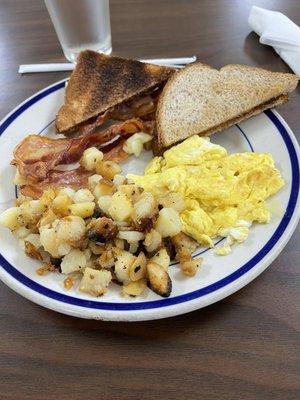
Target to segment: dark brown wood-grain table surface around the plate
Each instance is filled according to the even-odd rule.
[[[188,56],[219,67],[289,68],[247,24],[251,4],[300,25],[297,0],[114,0],[114,53]],[[0,1],[0,116],[67,73],[17,73],[64,61],[42,1]],[[299,138],[300,92],[280,113]],[[25,127],[24,127],[25,129]],[[160,321],[80,320],[0,284],[1,399],[300,398],[299,228],[270,268],[229,298]]]

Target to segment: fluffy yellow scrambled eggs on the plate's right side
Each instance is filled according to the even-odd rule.
[[[228,154],[197,135],[155,157],[143,176],[128,178],[156,197],[180,193],[183,231],[211,247],[214,237],[226,237],[220,255],[247,238],[252,222],[270,221],[265,200],[284,185],[270,154]]]

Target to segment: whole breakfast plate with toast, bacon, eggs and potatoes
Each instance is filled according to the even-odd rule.
[[[81,318],[151,320],[241,289],[299,215],[299,146],[271,108],[299,77],[84,51],[0,123],[0,278]]]

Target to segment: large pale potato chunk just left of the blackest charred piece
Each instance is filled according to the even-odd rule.
[[[54,221],[57,239],[60,242],[67,242],[75,245],[77,242],[82,242],[85,238],[85,222],[78,216],[68,216],[60,220]]]

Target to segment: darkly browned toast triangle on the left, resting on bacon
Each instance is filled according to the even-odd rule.
[[[92,50],[81,52],[56,117],[57,131],[72,131],[109,108],[159,87],[174,71]]]

